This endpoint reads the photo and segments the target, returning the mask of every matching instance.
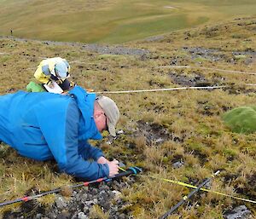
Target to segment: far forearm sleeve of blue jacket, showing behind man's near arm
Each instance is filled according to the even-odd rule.
[[[104,154],[102,153],[102,150],[97,147],[92,147],[88,141],[80,141],[79,142],[79,154],[84,159],[93,158],[94,160],[97,160],[100,157],[104,157]]]

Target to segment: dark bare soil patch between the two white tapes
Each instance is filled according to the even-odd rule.
[[[180,84],[186,87],[207,87],[213,86],[203,75],[196,74],[187,76],[184,74],[177,74],[175,72],[169,73],[170,78],[174,84]]]

